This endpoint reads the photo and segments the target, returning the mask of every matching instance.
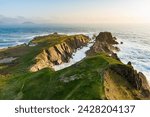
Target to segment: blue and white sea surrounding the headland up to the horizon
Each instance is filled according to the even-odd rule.
[[[0,48],[28,43],[35,36],[53,32],[63,34],[82,33],[91,37],[93,34],[102,31],[112,32],[119,43],[123,42],[123,44],[117,45],[121,50],[118,52],[119,58],[124,63],[131,61],[137,71],[143,72],[150,81],[150,25],[1,25]],[[78,58],[79,54],[76,55],[75,57]],[[83,58],[83,56],[80,53],[79,58]]]

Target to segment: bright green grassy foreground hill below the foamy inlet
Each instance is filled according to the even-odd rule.
[[[107,66],[108,62],[96,55],[57,72],[47,68],[24,73],[5,81],[0,99],[104,99],[102,74]],[[63,81],[72,77],[75,79]]]

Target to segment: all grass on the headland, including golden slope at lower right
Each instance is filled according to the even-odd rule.
[[[84,35],[52,34],[33,39],[29,45],[35,46],[20,45],[0,50],[0,59],[17,58],[11,63],[0,64],[0,99],[147,99],[147,93],[143,94],[132,81],[129,82],[130,76],[120,74],[125,70],[125,75],[126,72],[134,75],[132,66],[104,52],[87,56],[63,70],[29,71],[35,64],[35,57],[44,49],[74,38],[88,39]]]

